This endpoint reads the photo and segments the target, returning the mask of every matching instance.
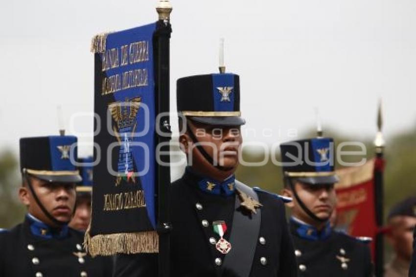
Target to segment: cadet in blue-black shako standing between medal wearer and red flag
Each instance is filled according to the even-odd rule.
[[[336,205],[332,138],[280,144],[284,195],[293,198],[290,231],[299,276],[371,275],[370,249],[361,241],[332,230]]]

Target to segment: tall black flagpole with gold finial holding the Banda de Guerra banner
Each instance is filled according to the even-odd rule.
[[[159,14],[159,21],[156,28],[156,49],[157,59],[157,103],[158,113],[162,116],[158,117],[159,130],[158,145],[165,145],[156,153],[160,157],[160,161],[169,164],[169,155],[160,155],[160,153],[169,153],[169,141],[171,138],[169,123],[169,42],[170,33],[172,32],[169,23],[170,12],[172,6],[169,0],[160,0],[156,8]],[[158,233],[159,233],[159,277],[170,276],[170,216],[169,216],[169,187],[170,187],[170,166],[158,164]]]

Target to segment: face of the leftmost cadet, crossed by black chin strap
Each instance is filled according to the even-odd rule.
[[[75,183],[55,183],[34,177],[29,178],[39,201],[49,214],[59,221],[69,221],[75,206]],[[31,215],[49,226],[58,227],[36,203],[27,184],[20,188],[19,196]]]

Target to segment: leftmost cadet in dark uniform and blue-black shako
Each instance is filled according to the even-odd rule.
[[[19,197],[27,207],[23,223],[0,233],[1,277],[103,277],[91,263],[83,233],[68,227],[75,206],[75,183],[81,176],[71,163],[76,138],[22,138]],[[74,150],[74,151],[72,151]]]

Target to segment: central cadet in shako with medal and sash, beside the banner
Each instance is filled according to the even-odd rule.
[[[188,167],[171,185],[172,277],[296,276],[283,202],[238,182],[239,76],[177,82],[180,144]],[[123,255],[116,276],[157,276],[157,256]]]

